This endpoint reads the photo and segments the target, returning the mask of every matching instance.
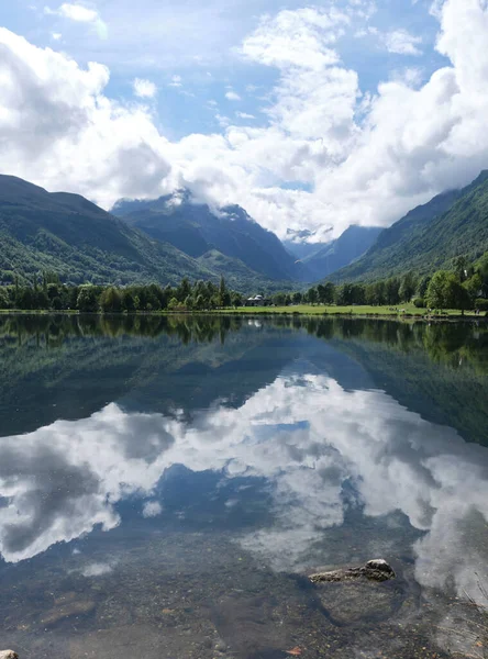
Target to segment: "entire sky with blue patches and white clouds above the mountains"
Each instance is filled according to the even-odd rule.
[[[388,226],[488,167],[486,43],[487,0],[3,0],[0,172]]]

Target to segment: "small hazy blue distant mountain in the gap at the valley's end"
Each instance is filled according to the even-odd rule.
[[[328,277],[367,252],[381,231],[379,226],[352,225],[337,239],[303,258],[303,265],[313,279]]]

